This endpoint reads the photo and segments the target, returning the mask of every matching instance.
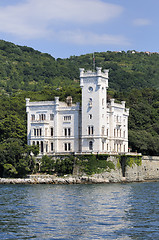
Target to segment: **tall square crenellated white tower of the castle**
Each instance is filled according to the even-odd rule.
[[[108,72],[80,69],[82,88],[82,152],[105,152],[107,140]]]

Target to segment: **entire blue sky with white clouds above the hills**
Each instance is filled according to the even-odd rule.
[[[0,39],[57,58],[159,52],[159,0],[0,0]]]

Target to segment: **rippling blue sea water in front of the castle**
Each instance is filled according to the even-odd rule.
[[[159,182],[0,185],[0,239],[159,239]]]

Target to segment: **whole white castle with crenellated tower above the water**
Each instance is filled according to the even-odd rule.
[[[66,153],[127,153],[129,109],[125,101],[107,101],[108,72],[80,69],[82,106],[66,102],[26,99],[28,145],[39,155]]]

